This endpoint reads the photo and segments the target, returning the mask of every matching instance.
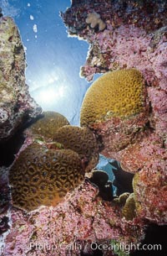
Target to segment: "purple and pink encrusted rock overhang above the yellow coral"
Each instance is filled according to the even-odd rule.
[[[136,67],[146,81],[166,84],[167,3],[159,0],[89,0],[76,2],[62,13],[69,35],[90,44],[81,76],[92,81],[95,73]],[[88,13],[99,13],[107,25],[93,30]],[[162,72],[163,71],[163,72]]]

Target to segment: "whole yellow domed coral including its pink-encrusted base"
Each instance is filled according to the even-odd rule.
[[[80,123],[94,130],[101,154],[140,140],[147,130],[149,102],[142,75],[135,69],[106,73],[89,87],[81,107]]]

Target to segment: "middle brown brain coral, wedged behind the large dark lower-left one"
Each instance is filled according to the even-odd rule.
[[[99,147],[89,128],[66,125],[54,133],[53,140],[72,149],[86,163],[86,171],[92,170],[99,160]]]

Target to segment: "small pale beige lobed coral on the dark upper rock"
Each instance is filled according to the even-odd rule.
[[[86,18],[86,23],[90,24],[90,27],[94,29],[96,26],[99,26],[99,31],[104,30],[106,27],[106,24],[104,21],[100,18],[99,13],[93,12],[89,13]]]

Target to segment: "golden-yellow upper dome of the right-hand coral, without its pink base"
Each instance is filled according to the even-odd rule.
[[[112,117],[129,118],[144,109],[144,81],[135,69],[108,72],[89,87],[81,107],[81,126]]]

